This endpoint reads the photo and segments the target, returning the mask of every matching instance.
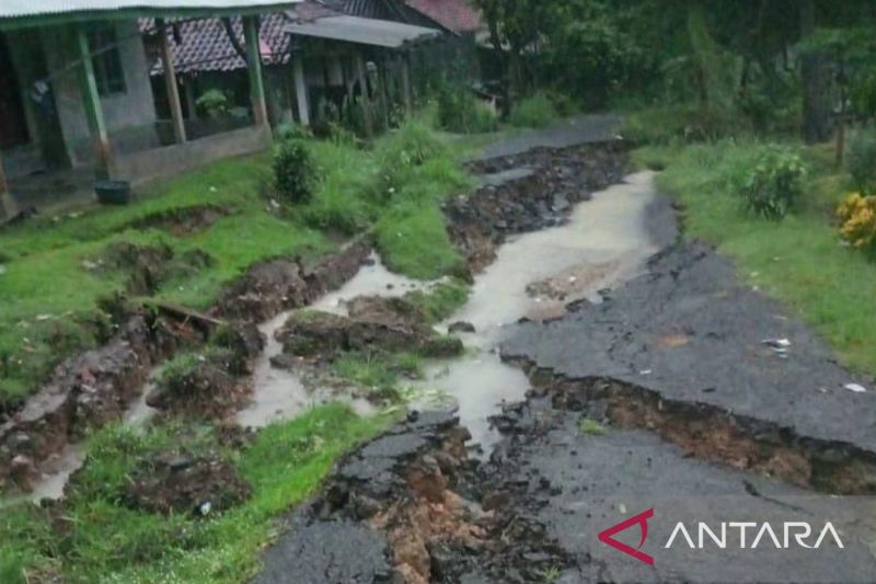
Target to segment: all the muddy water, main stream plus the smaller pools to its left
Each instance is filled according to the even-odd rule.
[[[475,277],[465,306],[439,325],[443,330],[454,321],[474,325],[474,333],[462,335],[465,353],[430,364],[425,379],[416,382],[422,396],[428,398],[415,398],[412,406],[451,403],[458,409],[461,424],[471,432],[472,444],[488,454],[498,438],[488,416],[498,413],[505,402],[522,400],[529,387],[519,368],[499,358],[498,347],[507,327],[523,318],[558,317],[575,300],[599,301],[599,290],[642,272],[647,257],[656,251],[645,226],[648,205],[655,197],[653,180],[650,172],[631,174],[623,183],[593,193],[590,201],[578,204],[564,225],[509,238],[499,247],[496,260]],[[372,255],[355,277],[310,308],[345,314],[346,302],[357,296],[402,296],[431,284],[393,274]],[[373,406],[355,392],[312,387],[299,373],[270,365],[272,357],[281,351],[274,333],[288,316],[289,312],[280,313],[260,325],[267,344],[255,364],[252,402],[238,413],[237,422],[262,427],[338,399],[362,414],[373,412]],[[142,425],[152,416],[154,411],[146,404],[150,389],[151,382],[127,412],[127,423]],[[438,390],[449,399],[436,401],[428,390]],[[82,460],[80,447],[68,447],[53,461],[51,471],[34,484],[32,496],[61,496],[67,479]]]

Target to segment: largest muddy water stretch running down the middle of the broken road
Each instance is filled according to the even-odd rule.
[[[598,290],[639,274],[657,251],[645,227],[653,180],[650,172],[626,176],[579,204],[567,224],[502,245],[496,261],[475,279],[469,302],[448,319],[474,324],[476,332],[463,335],[470,351],[435,364],[423,383],[456,400],[461,424],[485,453],[498,439],[487,416],[503,402],[522,400],[529,387],[520,369],[499,359],[506,325],[521,318],[558,317],[565,304],[598,301]]]

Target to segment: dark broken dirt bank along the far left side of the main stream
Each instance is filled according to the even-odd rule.
[[[624,164],[623,148],[611,144],[538,148],[472,162],[482,186],[445,204],[448,231],[479,273],[508,236],[560,225],[574,204],[619,182]]]

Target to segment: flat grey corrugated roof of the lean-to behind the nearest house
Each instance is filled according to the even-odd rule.
[[[406,43],[434,38],[441,33],[435,28],[414,26],[359,16],[328,16],[313,22],[289,24],[286,31],[301,36],[331,38],[360,45],[397,48]]]

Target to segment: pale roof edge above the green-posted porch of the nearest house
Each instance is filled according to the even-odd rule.
[[[72,14],[162,10],[229,10],[291,5],[301,0],[2,0],[0,20]]]

